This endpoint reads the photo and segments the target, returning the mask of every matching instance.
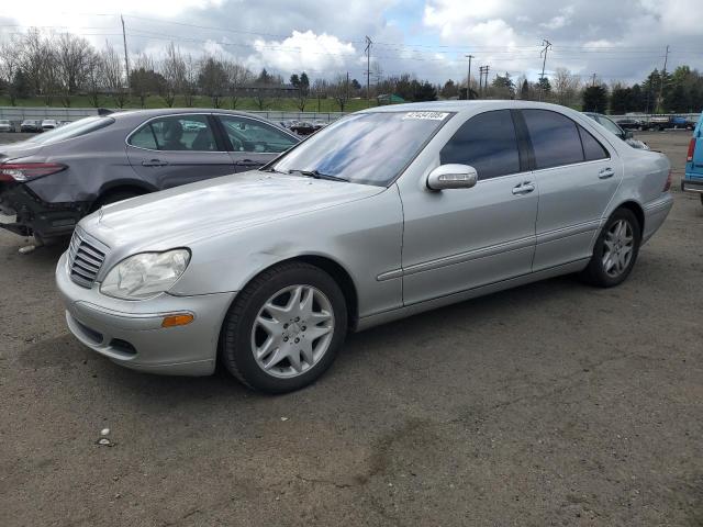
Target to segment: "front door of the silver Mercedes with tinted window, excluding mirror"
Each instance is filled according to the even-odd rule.
[[[510,110],[469,119],[439,158],[472,166],[479,181],[439,192],[401,188],[405,305],[531,271],[539,191]]]

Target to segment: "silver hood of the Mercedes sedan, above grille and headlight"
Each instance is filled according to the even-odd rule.
[[[249,171],[103,206],[80,226],[109,247],[164,250],[369,198],[382,187]]]

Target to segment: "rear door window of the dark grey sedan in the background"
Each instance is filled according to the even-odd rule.
[[[140,148],[165,152],[214,152],[215,137],[207,115],[171,115],[149,121],[130,137]]]

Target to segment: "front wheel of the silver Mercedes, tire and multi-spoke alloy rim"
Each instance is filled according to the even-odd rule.
[[[335,280],[309,264],[282,264],[237,295],[223,325],[221,360],[255,390],[298,390],[330,368],[346,328],[346,303]]]

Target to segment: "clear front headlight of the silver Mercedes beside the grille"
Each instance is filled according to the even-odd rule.
[[[100,292],[123,300],[144,300],[168,291],[188,262],[188,249],[142,253],[114,266],[100,285]]]

